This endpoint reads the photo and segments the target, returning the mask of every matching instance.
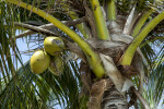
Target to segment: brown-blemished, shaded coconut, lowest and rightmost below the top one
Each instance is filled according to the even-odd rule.
[[[62,74],[62,59],[61,59],[61,57],[58,57],[58,56],[51,57],[48,70],[52,74],[55,74],[56,76],[59,76],[60,74]]]

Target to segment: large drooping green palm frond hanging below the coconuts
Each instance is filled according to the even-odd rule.
[[[25,63],[8,86],[3,86],[4,89],[0,93],[0,107],[31,106],[30,109],[39,109],[39,107],[49,109],[56,105],[69,109],[84,107],[83,104],[87,100],[85,97],[79,99],[81,82],[77,65],[75,62],[70,61],[65,64],[63,74],[55,76],[48,70],[42,75],[36,75],[31,72],[30,63]]]

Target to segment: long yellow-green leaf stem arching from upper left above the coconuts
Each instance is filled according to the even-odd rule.
[[[43,10],[39,10],[31,4],[26,4],[22,1],[17,1],[17,0],[5,0],[10,3],[20,5],[24,9],[27,9],[34,13],[36,13],[37,15],[46,19],[47,21],[51,22],[54,25],[56,25],[58,28],[60,28],[62,32],[65,32],[68,36],[70,36],[83,50],[83,52],[86,55],[87,61],[91,65],[91,69],[93,70],[93,72],[95,73],[97,78],[101,78],[104,74],[104,68],[101,63],[101,59],[98,57],[97,53],[95,53],[91,47],[89,46],[89,44],[86,41],[84,41],[77,33],[74,33],[72,29],[70,29],[69,27],[67,27],[65,24],[62,24],[60,21],[58,21],[56,17],[54,17],[52,15],[44,12]]]

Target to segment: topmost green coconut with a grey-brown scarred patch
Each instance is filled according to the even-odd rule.
[[[44,40],[44,48],[49,55],[58,56],[63,50],[65,44],[59,37],[49,36]]]

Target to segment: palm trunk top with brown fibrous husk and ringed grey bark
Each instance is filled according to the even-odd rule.
[[[128,109],[128,102],[109,78],[103,78],[92,85],[87,107],[89,109]]]

